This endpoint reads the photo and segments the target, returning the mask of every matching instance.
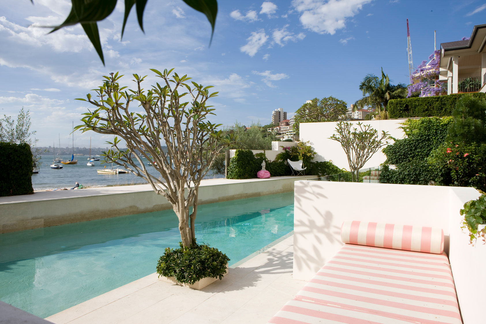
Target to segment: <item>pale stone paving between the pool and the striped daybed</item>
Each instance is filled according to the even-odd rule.
[[[47,318],[55,324],[266,323],[305,284],[292,278],[290,236],[202,290],[153,273]]]

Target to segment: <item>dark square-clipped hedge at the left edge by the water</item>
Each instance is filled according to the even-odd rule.
[[[33,194],[29,144],[0,142],[0,152],[3,157],[0,160],[0,197]]]

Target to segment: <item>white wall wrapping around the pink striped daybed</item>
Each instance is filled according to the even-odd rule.
[[[296,181],[294,278],[309,280],[342,247],[345,220],[438,227],[444,230],[463,322],[483,323],[486,245],[469,245],[459,214],[465,202],[478,197],[474,188]]]

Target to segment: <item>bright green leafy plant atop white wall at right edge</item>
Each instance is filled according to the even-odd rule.
[[[473,240],[479,237],[483,238],[486,243],[486,193],[479,190],[481,196],[476,200],[469,200],[464,204],[464,209],[461,209],[461,216],[464,215],[464,222],[461,228],[469,230],[469,241],[473,244]]]

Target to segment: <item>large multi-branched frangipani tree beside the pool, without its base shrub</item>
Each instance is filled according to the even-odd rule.
[[[210,93],[211,86],[188,84],[191,78],[187,75],[170,76],[173,70],[161,73],[151,69],[163,82],[149,90],[142,88],[146,76],[133,74],[133,90],[119,85],[123,75],[118,72],[104,76],[103,85],[93,90],[98,99],[89,93],[87,99],[77,99],[96,108],[85,113],[81,119],[84,124],[75,129],[115,136],[113,143],[107,142],[112,149],[103,153],[105,162],[125,167],[167,198],[179,219],[182,244],[190,246],[195,238],[199,185],[232,137],[224,136],[217,130],[221,125],[207,119],[214,115],[207,101],[217,92]],[[126,149],[121,147],[121,139]],[[164,144],[166,152],[162,150]],[[152,162],[159,178],[147,171],[137,152]]]

